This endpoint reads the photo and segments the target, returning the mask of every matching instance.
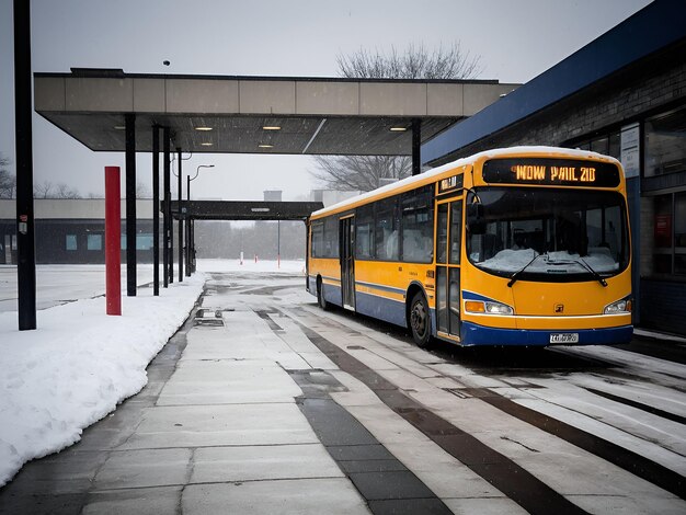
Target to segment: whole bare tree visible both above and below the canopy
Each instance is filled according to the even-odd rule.
[[[481,72],[479,61],[459,43],[434,50],[423,43],[411,44],[403,53],[391,47],[388,54],[361,48],[336,57],[340,75],[354,79],[473,79]],[[412,165],[404,156],[320,156],[315,162],[317,170],[310,174],[324,187],[342,191],[370,191],[382,185],[384,179],[404,179]]]

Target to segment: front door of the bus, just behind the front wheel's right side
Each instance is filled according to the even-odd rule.
[[[459,341],[462,199],[442,202],[437,207],[436,330],[444,337]]]

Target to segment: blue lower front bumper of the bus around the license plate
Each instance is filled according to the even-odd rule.
[[[579,333],[574,345],[611,345],[629,343],[633,334],[631,325],[607,329],[583,329],[563,331],[541,331],[530,329],[487,328],[471,322],[462,322],[461,344],[469,345],[550,345],[550,334]]]

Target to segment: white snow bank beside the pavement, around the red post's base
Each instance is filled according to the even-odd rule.
[[[186,319],[202,273],[122,297],[122,317],[105,298],[37,312],[35,331],[0,313],[0,487],[24,462],[60,450],[147,384],[146,367]]]

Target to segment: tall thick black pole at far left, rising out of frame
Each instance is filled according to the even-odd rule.
[[[31,9],[14,0],[14,121],[16,149],[16,284],[19,330],[36,329],[36,250],[33,220]]]

